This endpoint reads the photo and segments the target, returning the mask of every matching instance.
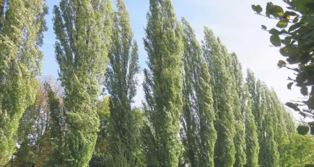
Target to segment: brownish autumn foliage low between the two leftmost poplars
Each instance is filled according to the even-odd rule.
[[[20,119],[16,152],[8,165],[46,166],[51,156],[51,110],[49,109],[49,86],[59,96],[62,94],[60,84],[52,76],[38,79],[35,103],[29,106]]]

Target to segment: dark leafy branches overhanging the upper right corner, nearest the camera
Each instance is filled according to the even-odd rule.
[[[268,2],[265,15],[262,14],[260,5],[252,5],[252,9],[259,15],[279,20],[276,28],[262,29],[271,34],[270,42],[276,47],[280,47],[280,54],[287,57],[285,60],[279,60],[278,66],[293,70],[296,78],[288,78],[292,82],[288,84],[291,89],[295,84],[300,87],[301,93],[308,96],[307,101],[297,103],[286,103],[286,105],[303,116],[313,116],[314,109],[314,5],[312,0],[284,0],[287,4],[287,10],[281,6]],[[279,30],[278,30],[279,28]],[[308,90],[311,88],[311,91]],[[301,109],[299,106],[306,105],[308,109]]]

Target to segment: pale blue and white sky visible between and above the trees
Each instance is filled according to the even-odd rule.
[[[279,48],[270,47],[270,34],[261,30],[261,25],[274,28],[277,20],[272,20],[254,14],[252,4],[260,4],[265,8],[269,0],[172,0],[177,19],[185,17],[195,30],[198,41],[203,39],[204,26],[212,29],[230,53],[235,52],[242,64],[245,76],[246,68],[250,68],[257,78],[264,81],[268,87],[273,87],[283,103],[290,100],[298,100],[302,97],[299,88],[287,89],[288,76],[295,78],[293,72],[287,69],[279,69],[277,62],[284,59],[279,53]],[[274,4],[282,7],[287,6],[282,0],[272,0]],[[54,5],[59,0],[47,0],[49,15],[46,16],[49,30],[44,33],[44,61],[42,66],[43,75],[52,74],[58,78],[59,66],[55,60],[53,32]],[[131,17],[131,27],[134,32],[134,39],[139,45],[139,63],[144,69],[147,67],[147,53],[143,46],[144,28],[147,20],[146,14],[149,10],[149,0],[125,0],[126,7]],[[113,5],[115,2],[113,0]],[[135,106],[141,106],[144,99],[143,73],[138,75],[139,87],[135,97]],[[293,112],[295,117],[299,117]]]

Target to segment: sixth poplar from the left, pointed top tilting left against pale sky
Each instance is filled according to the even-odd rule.
[[[216,112],[215,128],[217,142],[215,145],[214,163],[217,167],[233,167],[235,163],[235,116],[233,112],[234,100],[232,96],[232,79],[227,72],[223,48],[214,36],[212,30],[205,27],[205,37],[202,49],[207,65],[212,75],[212,92],[214,110]]]

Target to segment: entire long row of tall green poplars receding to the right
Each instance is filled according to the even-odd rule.
[[[36,79],[45,1],[0,0],[0,167],[281,166],[290,113],[252,71],[244,81],[235,53],[207,27],[200,44],[171,0],[150,0],[145,102],[132,107],[138,45],[123,0],[116,5],[54,6],[59,94]]]

